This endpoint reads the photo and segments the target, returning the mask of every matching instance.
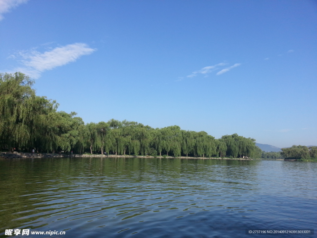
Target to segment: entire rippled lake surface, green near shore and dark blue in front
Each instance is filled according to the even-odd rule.
[[[167,158],[0,160],[0,237],[317,237],[317,163]],[[246,235],[245,229],[315,229]],[[65,235],[31,235],[65,231]]]

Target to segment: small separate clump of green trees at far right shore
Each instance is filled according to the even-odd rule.
[[[317,147],[307,147],[303,145],[293,145],[290,148],[282,148],[281,153],[285,158],[301,160],[317,160]]]

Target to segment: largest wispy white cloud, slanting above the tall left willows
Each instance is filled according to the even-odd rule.
[[[84,43],[56,47],[44,53],[36,50],[22,51],[18,55],[23,58],[21,60],[23,66],[16,68],[15,71],[25,73],[32,78],[39,78],[46,70],[74,62],[81,56],[89,55],[94,51],[95,49],[89,48]]]

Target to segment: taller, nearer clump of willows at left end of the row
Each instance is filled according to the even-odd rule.
[[[0,75],[0,148],[83,151],[84,122],[74,112],[57,112],[55,101],[36,96],[33,83],[22,73]]]

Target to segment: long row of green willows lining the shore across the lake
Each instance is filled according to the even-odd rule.
[[[90,122],[75,112],[57,111],[58,103],[36,96],[34,81],[17,72],[0,74],[0,149],[37,152],[113,153],[260,158],[255,140],[237,134],[215,139],[204,131],[179,126],[152,128],[138,122]]]

